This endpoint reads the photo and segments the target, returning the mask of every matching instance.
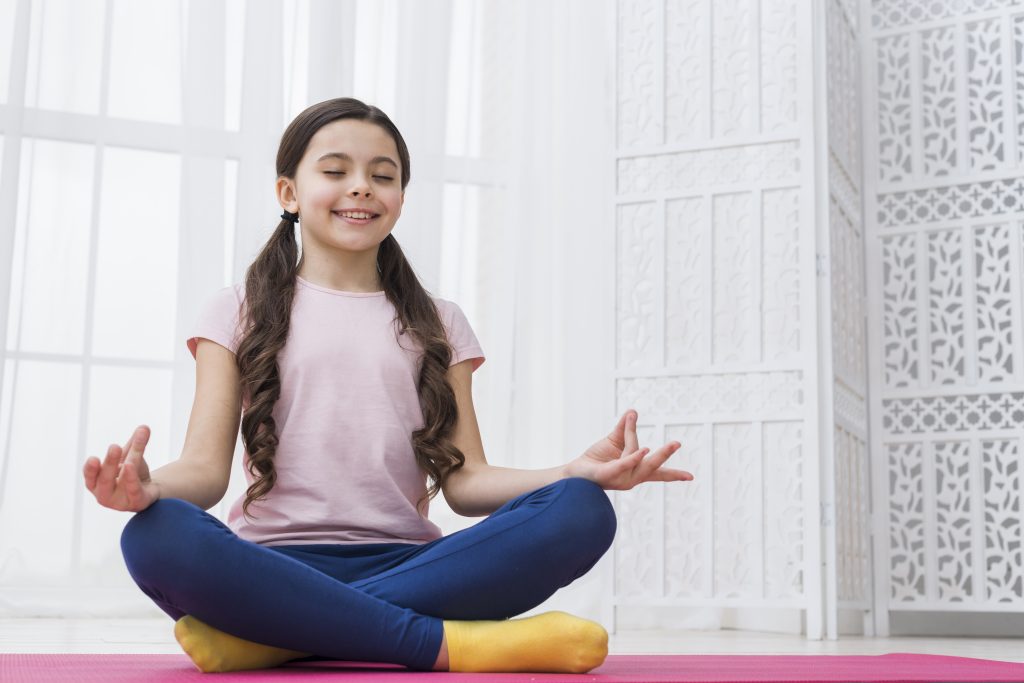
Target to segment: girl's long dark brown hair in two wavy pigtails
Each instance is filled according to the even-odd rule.
[[[278,148],[278,176],[295,178],[310,138],[319,128],[339,119],[356,119],[377,124],[390,133],[401,161],[401,188],[409,184],[409,147],[401,133],[384,112],[351,97],[338,97],[313,104],[299,114],[288,126]],[[398,334],[409,333],[418,342],[422,355],[418,366],[417,392],[423,412],[423,427],[412,433],[413,450],[420,468],[431,484],[417,502],[417,508],[432,499],[449,474],[462,467],[465,456],[450,440],[458,418],[455,392],[446,372],[452,347],[444,334],[437,307],[406,260],[398,242],[389,234],[377,254],[384,292],[394,304],[400,321]],[[273,405],[281,397],[278,353],[288,339],[298,270],[298,247],[295,225],[282,219],[263,250],[246,271],[243,337],[237,362],[242,392],[249,405],[242,417],[242,440],[249,454],[249,472],[254,481],[246,492],[242,506],[266,498],[273,488],[276,472],[273,456],[278,450]]]

